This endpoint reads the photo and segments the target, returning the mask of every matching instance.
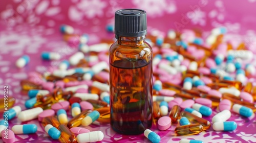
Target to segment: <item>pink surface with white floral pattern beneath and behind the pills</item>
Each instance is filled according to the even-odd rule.
[[[78,34],[87,33],[89,44],[97,43],[101,38],[113,39],[114,34],[105,31],[105,26],[113,24],[114,12],[122,8],[140,8],[147,11],[148,31],[166,34],[169,29],[199,28],[209,31],[214,27],[227,27],[228,34],[224,40],[233,40],[232,45],[245,41],[248,49],[255,53],[256,41],[256,1],[104,1],[104,0],[13,0],[1,1],[0,5],[0,85],[8,85],[9,96],[16,98],[15,105],[25,110],[24,102],[29,99],[20,93],[19,81],[28,78],[28,73],[44,73],[56,67],[63,59],[68,59],[77,52],[75,47],[62,41],[59,26],[71,25]],[[42,51],[58,52],[59,61],[44,61],[40,58]],[[223,54],[223,51],[220,51]],[[18,69],[15,61],[22,55],[29,55],[30,63]],[[255,61],[252,61],[255,64]],[[184,64],[184,63],[183,63]],[[174,83],[179,83],[173,77]],[[180,78],[180,77],[179,77]],[[252,80],[255,85],[255,80]],[[39,82],[39,81],[37,81]],[[1,103],[2,104],[2,103]],[[217,113],[216,110],[209,117]],[[70,111],[68,111],[70,116]],[[161,142],[179,142],[181,138],[203,140],[204,142],[255,142],[256,117],[249,118],[232,113],[230,121],[235,121],[238,128],[233,132],[215,132],[212,127],[199,135],[176,136],[172,125],[166,131],[159,131],[156,125],[151,130],[161,137]],[[14,118],[10,127],[21,124]],[[36,134],[15,135],[18,142],[58,142],[51,139],[37,120],[23,124],[36,124]],[[121,135],[113,131],[110,125],[90,125],[90,131],[101,130],[102,142],[150,142],[141,135]],[[0,142],[2,139],[0,139]]]

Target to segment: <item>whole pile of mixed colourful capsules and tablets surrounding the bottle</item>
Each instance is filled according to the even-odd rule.
[[[79,47],[79,52],[63,60],[58,68],[41,74],[29,73],[29,78],[20,82],[22,89],[28,91],[30,99],[25,102],[28,110],[22,111],[20,106],[9,109],[0,122],[2,136],[6,132],[6,118],[11,122],[17,116],[22,122],[38,118],[49,136],[60,142],[103,139],[101,131],[90,132],[82,127],[110,123],[108,51],[113,40],[87,45],[88,35],[74,34],[74,29],[67,25],[60,29],[63,39]],[[113,32],[112,27],[107,29]],[[250,82],[256,74],[250,64],[253,54],[244,43],[233,47],[232,43],[223,42],[225,33],[225,28],[216,28],[205,39],[196,30],[180,33],[170,30],[165,37],[152,32],[147,36],[154,55],[153,121],[159,130],[167,130],[172,123],[179,122],[180,126],[174,130],[176,135],[199,134],[209,129],[211,123],[215,131],[233,131],[237,124],[227,121],[230,111],[245,117],[254,114],[256,86]],[[61,57],[58,53],[43,52],[41,58]],[[29,61],[28,56],[23,56],[16,65],[21,68]],[[13,106],[15,99],[8,100],[9,107]],[[210,116],[212,109],[219,113],[210,123],[202,116]],[[34,124],[14,125],[8,129],[9,138],[2,139],[14,142],[14,134],[36,131]],[[152,142],[160,142],[160,136],[150,129],[144,135]],[[203,141],[181,139],[180,142]]]

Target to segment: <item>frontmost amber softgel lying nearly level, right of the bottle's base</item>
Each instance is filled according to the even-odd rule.
[[[190,124],[176,127],[174,132],[176,135],[194,135],[201,133],[203,129],[201,124]]]

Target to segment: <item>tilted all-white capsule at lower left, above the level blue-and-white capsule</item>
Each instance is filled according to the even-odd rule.
[[[22,122],[33,120],[37,118],[37,116],[44,110],[42,110],[41,107],[36,107],[33,109],[28,109],[25,111],[22,111],[18,114],[18,119]]]

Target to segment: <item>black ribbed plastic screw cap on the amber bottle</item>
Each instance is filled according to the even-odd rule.
[[[138,37],[146,35],[146,11],[140,9],[122,9],[115,13],[116,38]]]

